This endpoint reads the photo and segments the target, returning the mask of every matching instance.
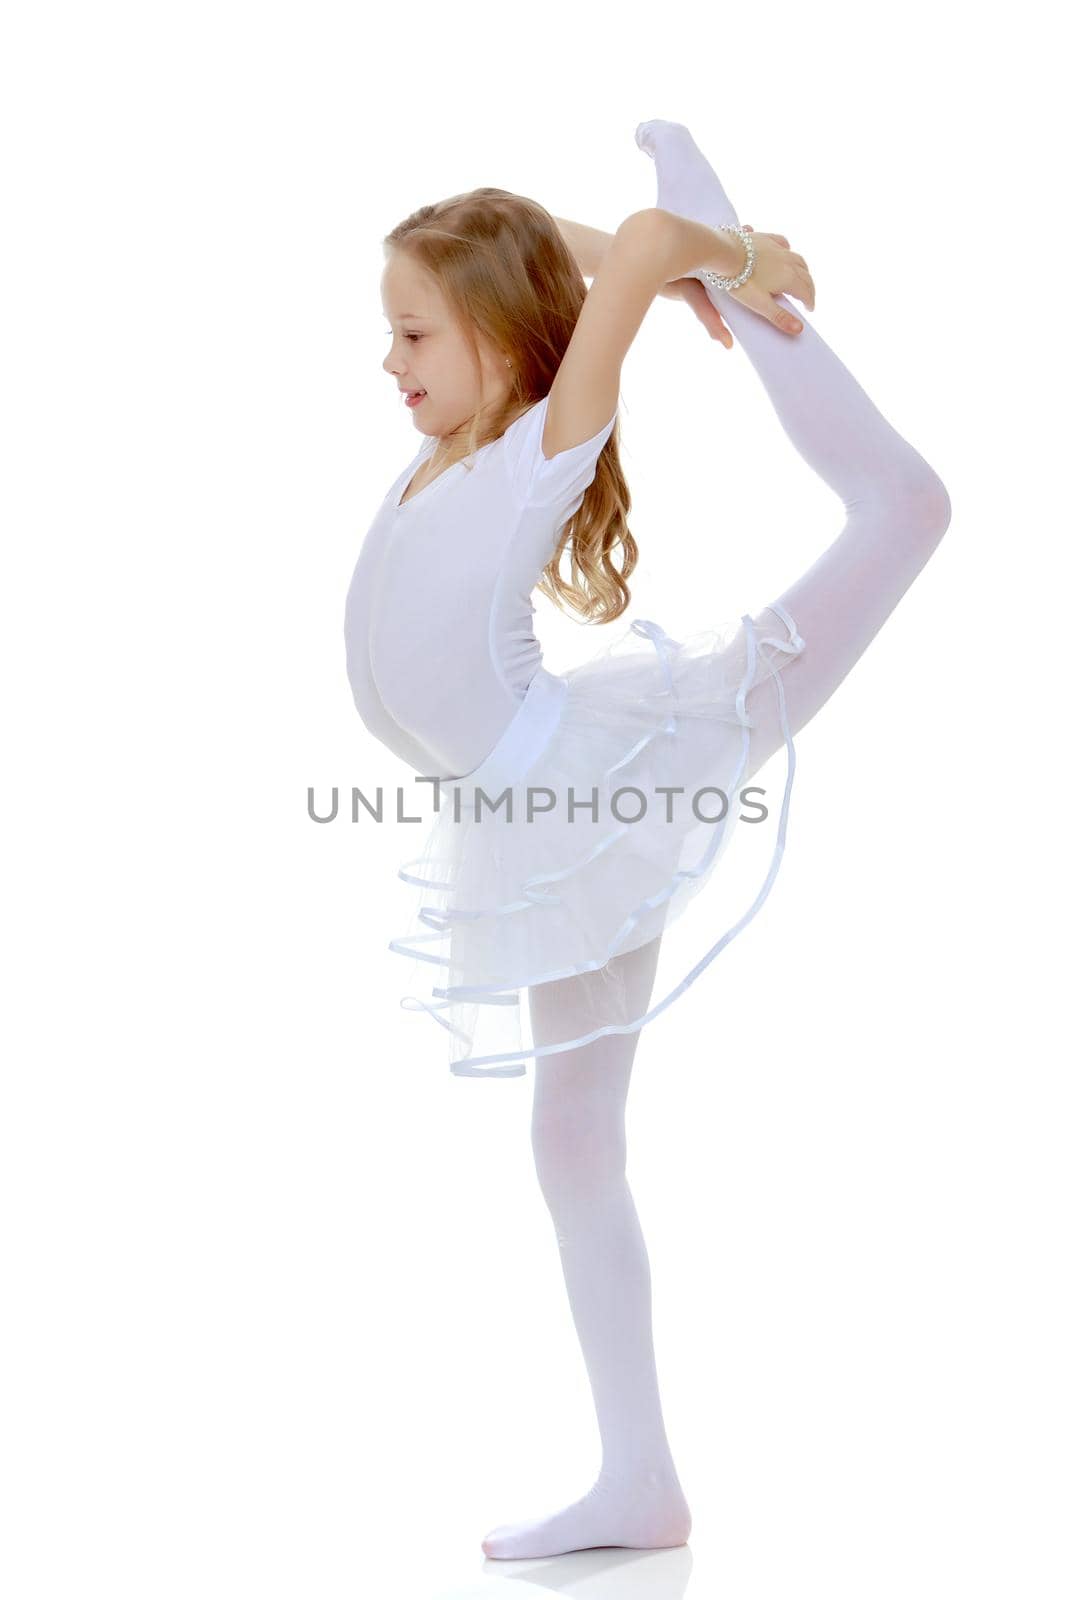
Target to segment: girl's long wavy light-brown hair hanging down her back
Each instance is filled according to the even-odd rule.
[[[512,392],[470,419],[466,453],[472,454],[549,394],[585,299],[585,280],[550,213],[507,189],[472,189],[419,206],[382,245],[403,250],[432,274],[475,365],[475,333],[510,358]],[[593,482],[537,582],[558,610],[569,605],[595,624],[625,611],[627,578],[638,558],[617,434],[616,421]],[[573,581],[560,570],[568,549]]]

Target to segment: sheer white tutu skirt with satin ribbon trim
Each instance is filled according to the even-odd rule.
[[[448,1030],[451,1072],[522,1077],[526,1061],[645,1027],[755,915],[782,856],[795,768],[782,670],[805,648],[792,618],[769,610],[782,627],[745,614],[733,635],[678,642],[638,621],[563,675],[541,667],[480,766],[421,786],[424,803],[437,789],[438,808],[400,867],[411,922],[389,949],[411,958],[402,1006]],[[745,797],[747,696],[771,674],[789,760],[777,818],[765,789]],[[742,818],[768,840],[755,901],[713,938],[704,896],[686,918],[688,934],[694,918],[707,925],[699,958],[677,971],[662,939],[649,1002],[621,958],[691,906]],[[550,1014],[571,1019],[573,1037],[557,1037],[558,1024],[537,1037],[530,990],[557,982],[571,994]]]

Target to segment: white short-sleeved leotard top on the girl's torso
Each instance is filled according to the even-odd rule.
[[[617,416],[545,459],[547,403],[402,506],[429,437],[360,549],[344,622],[355,706],[370,733],[426,776],[475,768],[541,664],[533,590]]]

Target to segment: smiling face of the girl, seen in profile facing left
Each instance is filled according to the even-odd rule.
[[[506,358],[475,334],[478,370],[435,280],[403,250],[390,251],[381,291],[390,339],[382,368],[398,389],[426,390],[416,406],[408,406],[419,432],[446,438],[466,427],[480,406],[507,395]],[[406,405],[403,394],[400,403]]]

